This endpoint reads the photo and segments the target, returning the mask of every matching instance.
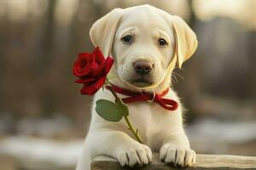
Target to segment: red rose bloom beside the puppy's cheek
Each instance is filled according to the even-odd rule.
[[[75,82],[84,84],[81,94],[96,94],[106,81],[112,65],[113,59],[111,57],[105,59],[98,47],[91,54],[79,54],[73,65],[73,75],[79,77]]]

